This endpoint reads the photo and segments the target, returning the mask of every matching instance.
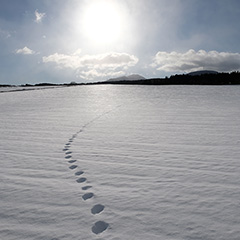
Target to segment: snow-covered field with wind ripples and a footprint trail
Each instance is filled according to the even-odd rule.
[[[0,239],[239,240],[240,86],[0,94]]]

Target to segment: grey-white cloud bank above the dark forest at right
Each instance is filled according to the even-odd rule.
[[[240,69],[240,53],[217,52],[190,49],[185,53],[158,52],[151,65],[159,71],[191,72],[198,70],[216,70],[220,72]]]

